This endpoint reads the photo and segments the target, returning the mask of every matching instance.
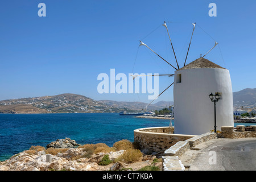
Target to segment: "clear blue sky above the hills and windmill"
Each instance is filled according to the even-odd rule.
[[[46,17],[38,4],[46,4]],[[209,3],[217,16],[210,17]],[[0,100],[75,93],[94,100],[143,101],[148,94],[100,94],[100,73],[172,74],[175,69],[144,47],[142,40],[175,65],[163,26],[167,22],[179,64],[219,45],[207,57],[229,69],[233,92],[256,88],[256,2],[246,1],[1,1]],[[172,22],[172,23],[171,23]],[[205,33],[207,32],[207,33]],[[209,36],[210,35],[210,36]],[[138,52],[138,53],[137,53]],[[173,82],[159,78],[159,92]],[[158,99],[173,101],[173,88]],[[155,101],[156,102],[156,101]]]

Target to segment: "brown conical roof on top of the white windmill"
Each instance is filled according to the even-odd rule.
[[[209,61],[208,59],[204,59],[203,57],[200,57],[199,59],[196,59],[195,61],[185,65],[185,67],[180,68],[179,70],[183,69],[195,69],[195,68],[222,68],[221,66],[213,63],[212,61]]]

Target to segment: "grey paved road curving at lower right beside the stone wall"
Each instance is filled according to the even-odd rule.
[[[256,138],[213,139],[180,157],[189,171],[256,171]]]

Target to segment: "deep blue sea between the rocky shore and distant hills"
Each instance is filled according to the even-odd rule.
[[[79,144],[134,140],[135,129],[169,126],[168,119],[143,119],[118,113],[0,114],[0,161],[28,150],[46,147],[65,137]]]

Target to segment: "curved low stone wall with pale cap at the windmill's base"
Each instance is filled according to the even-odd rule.
[[[163,152],[177,142],[187,140],[196,135],[172,134],[174,127],[151,127],[134,130],[134,142],[138,142],[142,149],[153,152]],[[164,133],[163,133],[164,132]],[[170,132],[172,132],[170,134]]]

